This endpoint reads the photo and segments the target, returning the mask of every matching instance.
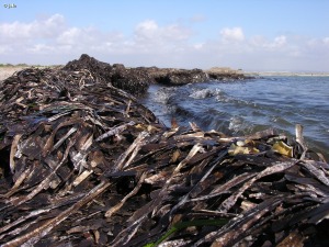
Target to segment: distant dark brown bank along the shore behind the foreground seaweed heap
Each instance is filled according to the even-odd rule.
[[[207,80],[241,80],[247,79],[241,71],[229,68],[174,69],[157,67],[126,68],[122,64],[110,65],[82,54],[78,60],[69,61],[63,70],[75,71],[87,69],[94,78],[102,82],[111,82],[114,87],[133,94],[147,91],[150,83],[166,86],[181,86]]]

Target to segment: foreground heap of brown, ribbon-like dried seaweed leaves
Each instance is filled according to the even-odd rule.
[[[166,128],[88,69],[0,90],[1,246],[328,246],[329,166],[300,126]]]

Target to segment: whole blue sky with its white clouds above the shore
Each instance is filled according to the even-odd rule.
[[[11,8],[10,8],[11,7]],[[0,64],[329,72],[329,0],[0,0]]]

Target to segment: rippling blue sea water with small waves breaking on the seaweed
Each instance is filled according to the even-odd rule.
[[[171,119],[205,131],[248,135],[269,127],[294,137],[304,126],[307,145],[329,158],[329,77],[258,77],[180,87],[150,86],[140,99],[170,126]]]

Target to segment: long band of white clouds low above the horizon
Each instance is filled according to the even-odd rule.
[[[197,16],[193,18],[197,21]],[[192,19],[189,26],[182,22],[162,25],[146,20],[132,26],[127,35],[72,26],[60,14],[33,22],[0,22],[0,63],[66,64],[87,53],[100,60],[127,66],[328,71],[328,36],[248,37],[242,27],[225,27],[218,30],[219,37],[214,30],[205,38],[196,35]]]

